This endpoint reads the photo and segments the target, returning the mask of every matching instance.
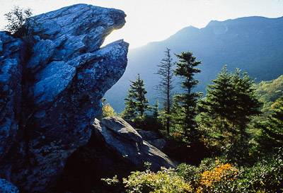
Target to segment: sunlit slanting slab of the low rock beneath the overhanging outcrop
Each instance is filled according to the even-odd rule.
[[[137,131],[120,117],[106,117],[101,122],[96,119],[93,126],[97,140],[104,141],[107,151],[120,154],[135,165],[149,162],[151,169],[155,171],[161,166],[175,167],[166,154],[144,141]]]

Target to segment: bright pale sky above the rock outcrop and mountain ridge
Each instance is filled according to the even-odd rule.
[[[32,8],[38,15],[73,4],[125,11],[126,25],[109,35],[105,42],[124,39],[130,48],[165,40],[190,25],[204,28],[212,20],[283,16],[283,0],[0,0],[0,29],[6,25],[4,14],[13,6]]]

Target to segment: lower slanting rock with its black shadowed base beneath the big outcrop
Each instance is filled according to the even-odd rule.
[[[154,171],[175,166],[120,117],[95,119],[91,139],[67,159],[57,192],[126,192],[124,184],[106,185],[101,178],[117,175],[122,182],[130,172],[144,170],[144,162]]]

